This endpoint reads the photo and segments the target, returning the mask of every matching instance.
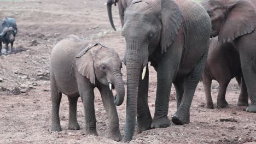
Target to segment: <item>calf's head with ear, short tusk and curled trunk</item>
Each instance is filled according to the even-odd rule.
[[[92,84],[98,81],[104,86],[109,86],[110,90],[116,89],[115,105],[123,103],[125,90],[121,60],[117,52],[99,43],[90,45],[78,53],[76,64],[79,74],[86,76]]]

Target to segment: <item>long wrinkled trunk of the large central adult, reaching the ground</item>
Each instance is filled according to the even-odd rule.
[[[148,45],[142,45],[138,39],[126,39],[125,64],[127,70],[127,105],[124,141],[131,141],[137,116],[137,98],[142,68],[148,63]],[[146,69],[145,69],[146,70]]]

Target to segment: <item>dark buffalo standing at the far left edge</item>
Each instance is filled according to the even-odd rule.
[[[3,31],[8,28],[8,31]],[[2,43],[5,44],[5,50],[9,50],[9,43],[11,44],[11,51],[13,51],[13,43],[15,41],[15,36],[18,32],[15,19],[11,17],[5,17],[0,21],[0,32],[2,32],[2,37],[0,38],[0,53],[2,52]]]

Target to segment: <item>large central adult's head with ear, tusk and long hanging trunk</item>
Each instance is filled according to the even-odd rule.
[[[125,141],[132,140],[135,130],[138,83],[145,76],[148,57],[167,51],[182,21],[182,11],[172,0],[133,0],[125,11],[122,32],[126,40],[124,63],[127,68]]]

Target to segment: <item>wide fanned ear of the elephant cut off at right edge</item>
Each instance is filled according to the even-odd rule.
[[[220,28],[219,43],[231,42],[241,35],[252,33],[256,27],[256,11],[249,1],[241,0],[230,5]]]

